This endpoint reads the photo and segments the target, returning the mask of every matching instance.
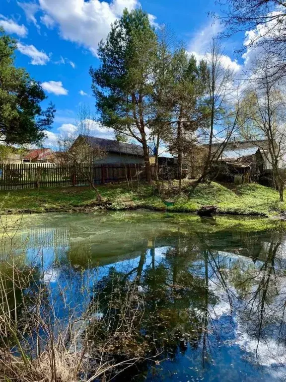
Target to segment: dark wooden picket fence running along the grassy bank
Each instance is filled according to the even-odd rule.
[[[144,180],[146,172],[142,164],[54,164],[50,167],[29,163],[0,164],[0,190],[87,185],[87,178],[93,179],[95,184]]]

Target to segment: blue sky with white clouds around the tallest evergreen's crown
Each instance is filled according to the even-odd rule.
[[[89,104],[95,113],[88,70],[90,65],[99,65],[98,41],[106,37],[110,23],[120,17],[124,7],[142,6],[155,25],[166,24],[198,56],[221,30],[208,17],[209,11],[219,12],[214,0],[0,1],[0,25],[18,40],[16,65],[42,83],[46,103],[53,101],[57,108],[46,146],[53,146],[61,131],[72,130],[80,103]],[[242,42],[243,36],[223,42],[225,61],[235,71],[241,71],[246,60],[233,53]],[[96,126],[93,134],[113,137],[112,132]]]

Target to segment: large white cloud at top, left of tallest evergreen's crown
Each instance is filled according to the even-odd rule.
[[[94,55],[110,24],[120,17],[124,8],[134,9],[138,0],[39,0],[40,8],[59,24],[61,36],[87,47]]]

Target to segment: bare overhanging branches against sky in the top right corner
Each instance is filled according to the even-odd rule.
[[[214,14],[225,26],[222,36],[251,32],[240,53],[255,48],[268,54],[269,81],[286,74],[286,2],[282,0],[218,0],[221,13]],[[253,68],[251,68],[253,69]],[[263,73],[262,73],[263,74]]]

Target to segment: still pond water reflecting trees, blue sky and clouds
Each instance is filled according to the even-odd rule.
[[[135,330],[150,360],[118,381],[286,381],[279,224],[150,212],[13,216],[2,224],[9,232],[2,269],[11,243],[15,258],[39,263],[63,321],[71,308],[82,313],[97,286],[108,299],[115,279],[124,293],[135,281],[144,306]]]

